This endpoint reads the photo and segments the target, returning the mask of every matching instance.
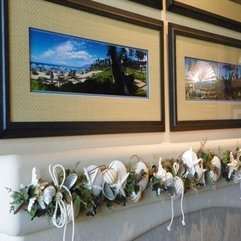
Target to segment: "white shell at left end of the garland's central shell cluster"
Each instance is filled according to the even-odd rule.
[[[102,186],[104,183],[103,174],[100,168],[96,165],[90,165],[86,168],[90,180],[92,181],[92,193],[96,197],[101,193]]]

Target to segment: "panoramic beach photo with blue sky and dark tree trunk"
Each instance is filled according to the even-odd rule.
[[[30,91],[148,98],[148,51],[29,29]]]

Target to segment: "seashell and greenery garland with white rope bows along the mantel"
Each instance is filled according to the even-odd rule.
[[[240,183],[241,148],[224,151],[221,156],[205,150],[205,143],[194,152],[184,151],[177,159],[159,159],[156,165],[148,166],[140,157],[132,156],[129,166],[115,160],[106,166],[90,165],[83,171],[78,164],[73,170],[62,165],[50,165],[51,181],[41,180],[32,170],[30,184],[21,185],[18,191],[7,188],[11,193],[10,211],[14,214],[25,210],[33,220],[47,216],[57,228],[64,228],[72,221],[74,240],[75,217],[85,212],[94,216],[101,205],[111,207],[115,203],[126,205],[127,201],[138,202],[148,185],[155,196],[166,195],[171,199],[173,221],[173,199],[181,198],[182,224],[185,225],[182,208],[183,195],[189,189],[200,189],[214,185],[221,177],[226,181]],[[241,185],[241,184],[240,184]]]

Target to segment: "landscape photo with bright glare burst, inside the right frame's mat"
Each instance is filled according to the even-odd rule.
[[[241,101],[241,65],[185,57],[186,100]]]

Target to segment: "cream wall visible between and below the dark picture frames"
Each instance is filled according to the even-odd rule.
[[[72,150],[80,148],[157,144],[163,142],[187,142],[201,141],[204,139],[228,139],[240,138],[241,129],[192,131],[192,132],[169,132],[169,101],[168,101],[168,66],[167,66],[167,22],[178,23],[196,29],[209,31],[232,38],[241,39],[241,33],[218,26],[213,26],[205,22],[200,22],[166,11],[158,11],[142,5],[132,3],[127,0],[96,0],[124,10],[133,11],[152,18],[164,21],[165,30],[165,109],[166,109],[166,132],[164,133],[138,133],[138,134],[118,134],[118,135],[90,135],[74,137],[48,137],[48,138],[26,138],[0,140],[0,154],[28,153],[28,152],[52,152],[58,150]],[[165,1],[164,5],[165,5]],[[165,6],[164,6],[165,9]]]

